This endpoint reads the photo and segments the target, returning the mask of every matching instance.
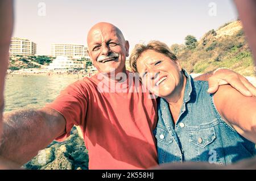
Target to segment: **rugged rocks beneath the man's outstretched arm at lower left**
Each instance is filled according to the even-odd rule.
[[[77,127],[78,128],[78,127]],[[79,136],[77,128],[73,128],[71,136],[63,142],[53,141],[30,162],[26,163],[26,169],[88,169],[88,151],[84,140]]]

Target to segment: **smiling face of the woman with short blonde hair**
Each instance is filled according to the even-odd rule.
[[[137,60],[143,85],[157,96],[169,96],[182,80],[181,66],[162,53],[146,50]]]

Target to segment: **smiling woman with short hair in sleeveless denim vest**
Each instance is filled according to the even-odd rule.
[[[226,165],[256,153],[255,96],[243,96],[230,85],[208,94],[208,82],[194,81],[160,41],[136,45],[130,66],[160,97],[154,130],[159,164]]]

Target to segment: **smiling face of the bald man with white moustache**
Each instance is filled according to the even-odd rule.
[[[88,52],[93,65],[101,73],[125,72],[126,56],[129,55],[129,43],[125,41],[113,26],[101,26],[88,34]]]

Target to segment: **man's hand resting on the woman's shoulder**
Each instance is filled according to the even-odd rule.
[[[218,86],[230,84],[245,96],[256,96],[256,88],[245,77],[229,69],[218,69],[208,82],[209,93],[216,92]]]

